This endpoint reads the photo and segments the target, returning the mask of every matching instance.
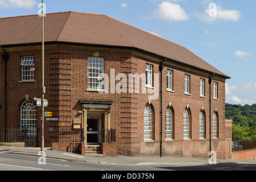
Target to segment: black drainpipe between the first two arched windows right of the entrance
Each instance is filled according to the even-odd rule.
[[[159,65],[159,71],[160,71],[160,157],[162,158],[162,138],[163,138],[163,62],[166,61],[166,58],[160,63]]]

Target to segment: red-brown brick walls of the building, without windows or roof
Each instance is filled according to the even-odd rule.
[[[109,76],[110,69],[115,70],[115,75],[124,73],[127,78],[129,73],[145,73],[145,65],[153,65],[154,73],[159,72],[159,62],[131,53],[121,53],[119,51],[102,51],[99,57],[105,59],[105,73]],[[1,55],[0,55],[1,56]],[[35,56],[35,82],[19,82],[21,80],[20,60],[22,56]],[[47,92],[45,98],[49,101],[46,111],[52,111],[53,118],[59,118],[59,122],[44,123],[44,140],[46,146],[51,146],[54,142],[53,132],[49,127],[71,127],[74,118],[82,118],[78,113],[82,109],[79,100],[100,100],[113,101],[110,115],[110,128],[116,129],[117,151],[121,155],[135,156],[159,156],[160,154],[160,94],[156,100],[151,100],[153,110],[152,141],[144,142],[143,139],[143,111],[148,104],[148,93],[142,93],[142,81],[140,82],[139,94],[129,93],[98,93],[88,92],[87,89],[87,59],[94,56],[94,51],[72,50],[72,49],[47,49],[45,55],[45,85]],[[7,65],[8,83],[8,127],[20,127],[20,106],[25,101],[25,94],[30,95],[30,100],[34,97],[41,98],[40,89],[42,87],[41,71],[41,51],[16,51],[10,52],[10,59]],[[225,80],[214,76],[213,81],[218,82],[218,100],[212,99],[212,110],[209,111],[209,84],[208,73],[195,71],[192,68],[183,68],[174,63],[164,64],[163,69],[163,148],[164,156],[208,156],[209,152],[209,113],[213,114],[217,110],[218,114],[218,137],[212,139],[212,150],[217,152],[218,158],[225,156]],[[3,61],[0,61],[0,68],[3,68]],[[174,92],[167,92],[166,72],[167,69],[173,71]],[[184,94],[184,74],[190,75],[191,94]],[[3,74],[0,73],[3,80]],[[200,78],[205,79],[205,98],[200,97]],[[115,86],[119,83],[115,80]],[[126,81],[129,85],[129,80]],[[154,85],[156,83],[154,82]],[[160,83],[159,83],[160,86]],[[157,86],[156,86],[157,87]],[[3,102],[4,85],[0,83],[0,103]],[[18,90],[18,92],[17,92]],[[155,91],[156,90],[156,91]],[[212,82],[213,90],[213,82]],[[110,92],[109,88],[109,92]],[[128,92],[129,90],[127,90]],[[155,92],[157,91],[154,88]],[[135,90],[134,90],[135,92]],[[213,94],[213,92],[212,92]],[[170,104],[174,111],[174,140],[165,140],[165,110]],[[183,111],[189,108],[191,115],[190,139],[183,139]],[[199,139],[199,113],[204,107],[205,112],[205,139]],[[41,122],[40,115],[42,109],[37,107],[39,136]],[[0,118],[4,118],[4,110],[0,111]],[[1,120],[1,126],[3,121]],[[40,141],[40,137],[39,137]]]

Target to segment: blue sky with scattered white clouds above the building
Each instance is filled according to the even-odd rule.
[[[40,2],[0,0],[0,17],[38,14]],[[226,81],[227,103],[256,103],[255,0],[44,0],[44,3],[46,13],[106,14],[187,47],[232,77]]]

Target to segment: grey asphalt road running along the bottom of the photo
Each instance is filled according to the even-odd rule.
[[[59,159],[46,159],[39,164],[39,157],[15,154],[0,154],[0,171],[256,171],[256,164],[223,163],[216,165],[152,164],[152,165],[110,165],[84,162],[69,162]],[[42,162],[42,160],[40,160]]]

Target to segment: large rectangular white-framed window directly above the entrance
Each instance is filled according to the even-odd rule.
[[[104,90],[104,66],[104,58],[88,57],[88,89]]]

